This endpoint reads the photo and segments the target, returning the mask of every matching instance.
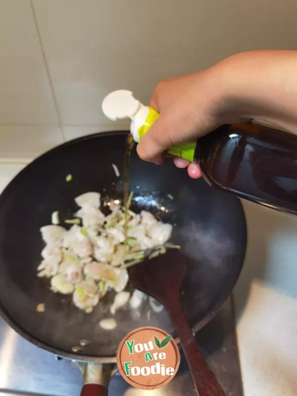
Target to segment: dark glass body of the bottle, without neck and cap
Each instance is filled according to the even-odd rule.
[[[211,186],[297,214],[297,136],[253,124],[223,126],[197,141],[195,161]]]

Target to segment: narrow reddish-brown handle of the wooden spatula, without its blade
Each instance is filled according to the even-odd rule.
[[[185,318],[180,297],[168,299],[164,305],[166,305],[185,352],[198,395],[226,396],[201,353],[196,338]]]

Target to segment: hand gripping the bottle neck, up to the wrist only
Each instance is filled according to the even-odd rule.
[[[208,69],[157,85],[150,106],[160,116],[138,145],[141,158],[160,164],[168,148],[196,140],[225,122],[223,81],[217,74]],[[198,164],[178,157],[173,161],[179,168],[188,167],[192,178],[201,176]]]

